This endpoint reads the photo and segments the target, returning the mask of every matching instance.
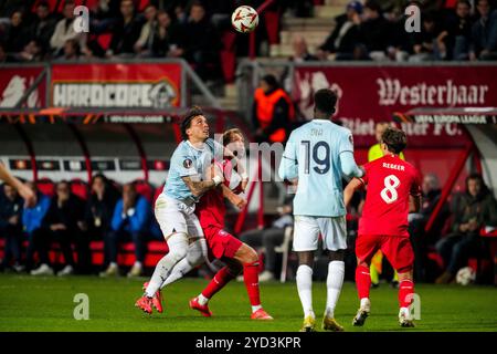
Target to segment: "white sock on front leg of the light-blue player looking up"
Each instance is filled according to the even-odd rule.
[[[148,283],[145,293],[152,298],[160,285],[171,273],[172,268],[187,257],[188,237],[186,233],[173,233],[168,240],[169,253],[160,259]]]

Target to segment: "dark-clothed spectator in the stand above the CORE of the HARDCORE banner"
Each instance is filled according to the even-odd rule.
[[[120,17],[113,28],[113,38],[106,56],[130,58],[135,54],[135,43],[140,37],[141,23],[135,14],[133,0],[120,1]]]

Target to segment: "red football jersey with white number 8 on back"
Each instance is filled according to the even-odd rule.
[[[366,202],[359,235],[409,237],[409,196],[421,195],[417,169],[395,155],[364,165]]]

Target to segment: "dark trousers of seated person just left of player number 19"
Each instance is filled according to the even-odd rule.
[[[285,229],[268,228],[265,230],[248,230],[240,235],[240,240],[251,247],[263,246],[266,250],[264,253],[264,270],[272,273],[276,269],[275,248],[282,244],[285,238]]]

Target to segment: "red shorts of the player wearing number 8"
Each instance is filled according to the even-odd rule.
[[[414,262],[414,252],[408,237],[359,235],[356,240],[356,256],[370,264],[371,258],[381,250],[399,273],[410,271]]]

